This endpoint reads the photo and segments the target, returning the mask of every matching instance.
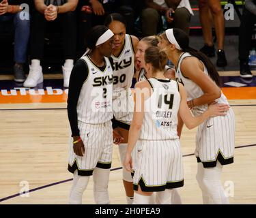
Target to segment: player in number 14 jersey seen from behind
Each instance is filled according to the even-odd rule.
[[[145,69],[153,78],[135,85],[134,114],[124,166],[132,168],[132,149],[139,138],[139,155],[134,173],[134,204],[149,204],[156,191],[157,204],[171,204],[171,189],[184,185],[177,112],[189,129],[210,116],[225,115],[229,106],[211,105],[197,117],[190,114],[186,91],[177,81],[164,76],[167,55],[157,47],[145,50]],[[165,191],[168,189],[169,191]]]

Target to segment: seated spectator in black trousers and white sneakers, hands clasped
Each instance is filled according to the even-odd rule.
[[[63,55],[65,63],[62,66],[63,87],[68,87],[70,73],[76,53],[76,6],[79,0],[34,0],[35,12],[31,19],[31,65],[29,76],[24,87],[35,87],[43,82],[40,61],[44,51],[44,30],[48,22],[59,20],[63,35]]]

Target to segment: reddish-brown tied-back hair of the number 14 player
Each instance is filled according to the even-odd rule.
[[[145,63],[151,63],[156,71],[163,71],[167,64],[167,54],[156,46],[145,50]]]

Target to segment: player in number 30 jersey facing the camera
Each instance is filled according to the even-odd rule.
[[[115,117],[115,131],[124,140],[119,144],[121,163],[127,150],[128,131],[132,121],[133,99],[129,90],[134,76],[134,54],[137,52],[139,40],[133,35],[126,34],[126,20],[121,14],[113,13],[106,17],[104,22],[114,33],[114,48],[111,55],[113,60],[113,114]],[[130,109],[129,107],[130,101]],[[133,185],[130,172],[123,167],[123,183],[126,190],[126,200],[132,204]]]

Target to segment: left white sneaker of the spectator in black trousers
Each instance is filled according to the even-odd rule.
[[[42,74],[42,67],[31,67],[29,65],[29,76],[27,76],[27,79],[23,83],[24,87],[36,87],[37,84],[44,81],[44,77]]]

